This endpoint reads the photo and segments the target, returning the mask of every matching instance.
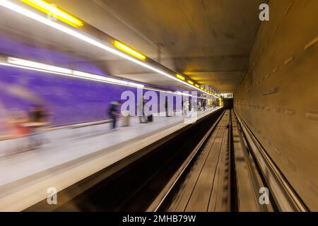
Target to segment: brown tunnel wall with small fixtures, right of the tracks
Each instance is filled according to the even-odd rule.
[[[310,210],[318,210],[318,1],[270,0],[235,110]]]

